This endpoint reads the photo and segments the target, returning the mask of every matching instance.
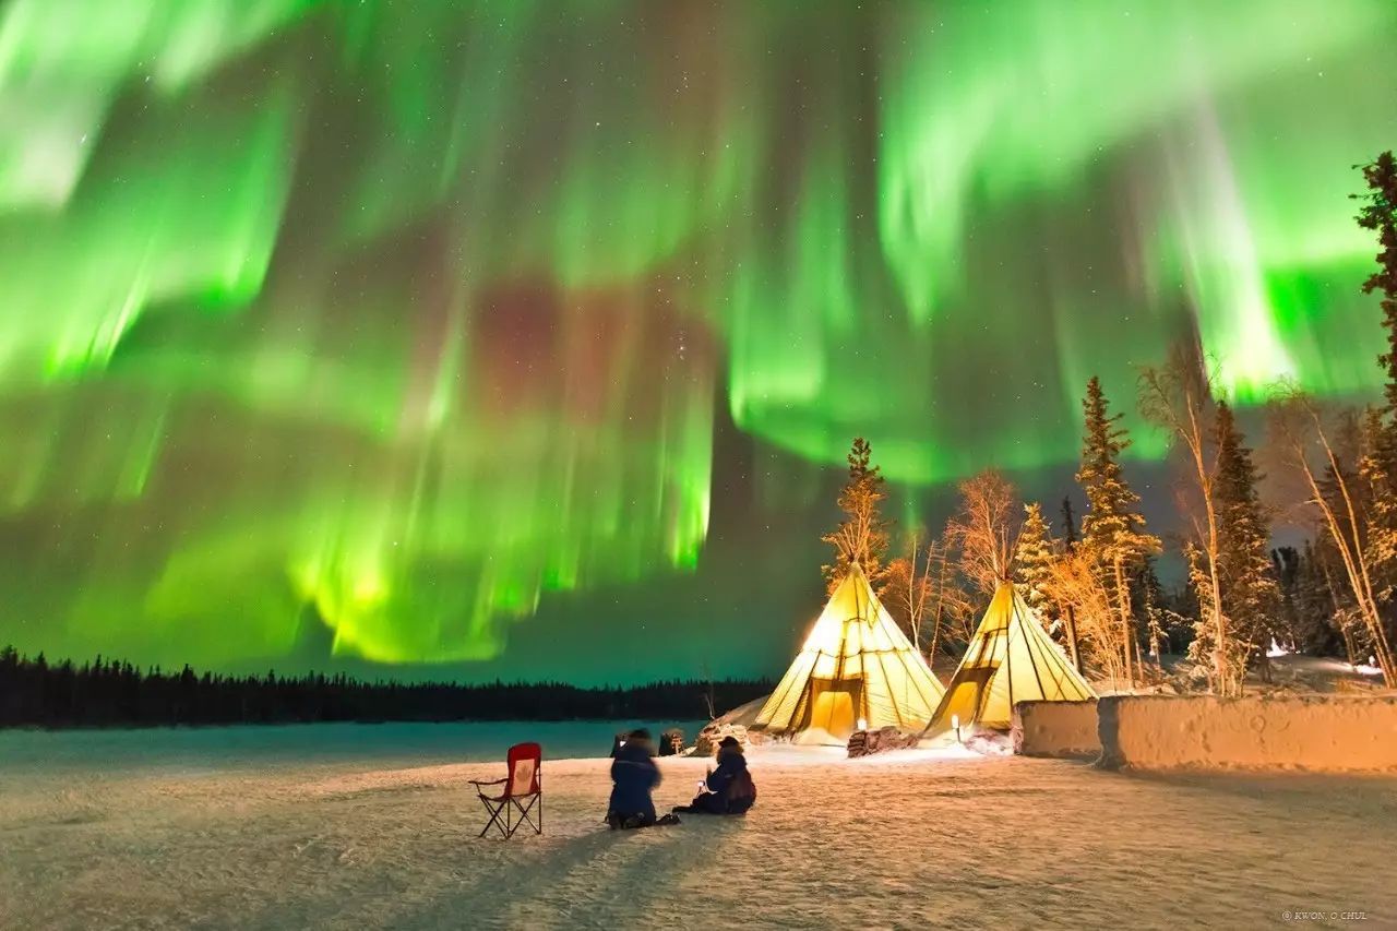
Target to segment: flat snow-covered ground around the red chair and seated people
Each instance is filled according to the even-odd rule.
[[[750,816],[613,833],[557,756],[616,726],[436,727],[0,734],[0,927],[1397,927],[1394,780],[768,746]],[[503,763],[447,760],[534,737],[545,836],[476,840]]]

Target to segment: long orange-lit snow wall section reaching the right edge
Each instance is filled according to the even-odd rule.
[[[1111,696],[1106,767],[1397,773],[1397,696]]]

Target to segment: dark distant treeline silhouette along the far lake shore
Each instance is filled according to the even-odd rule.
[[[231,677],[162,672],[96,657],[75,665],[0,650],[0,727],[155,727],[314,721],[685,721],[736,707],[770,682],[654,682],[577,688],[560,682],[460,685],[360,682],[345,675]]]

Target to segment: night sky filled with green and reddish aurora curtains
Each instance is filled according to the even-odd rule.
[[[1375,391],[1394,55],[1391,0],[0,3],[0,643],[785,644],[856,433],[908,500],[1060,467],[1189,329],[1243,405]]]

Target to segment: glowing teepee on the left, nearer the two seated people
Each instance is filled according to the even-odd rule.
[[[844,744],[859,727],[923,727],[942,691],[855,563],[753,728],[798,744]]]

